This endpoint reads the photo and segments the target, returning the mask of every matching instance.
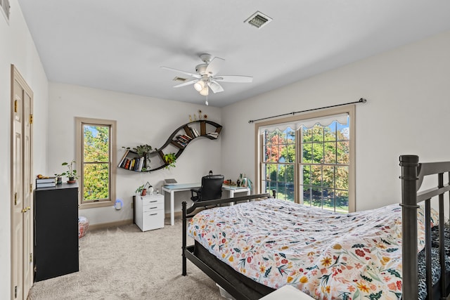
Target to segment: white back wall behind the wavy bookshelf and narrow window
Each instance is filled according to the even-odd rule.
[[[90,89],[68,84],[49,84],[49,174],[65,171],[62,162],[75,158],[75,117],[115,119],[117,121],[117,160],[124,147],[148,144],[160,148],[172,132],[189,122],[189,115],[202,110],[208,119],[221,124],[220,109],[170,100],[148,98],[112,91]],[[222,132],[226,132],[226,128]],[[221,138],[196,138],[176,160],[176,167],[150,173],[136,173],[117,169],[117,199],[124,202],[121,210],[113,207],[80,209],[90,224],[110,223],[133,218],[132,195],[136,188],[150,182],[161,191],[165,178],[176,178],[179,183],[200,182],[211,169],[219,173],[221,166]],[[79,167],[77,168],[79,170]],[[190,193],[176,195],[176,211],[181,201],[189,200]],[[166,205],[166,211],[169,206]]]

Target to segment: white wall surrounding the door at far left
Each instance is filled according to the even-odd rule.
[[[11,285],[11,64],[34,92],[34,173],[46,171],[47,79],[17,0],[11,0],[9,24],[0,13],[0,295],[10,299]]]

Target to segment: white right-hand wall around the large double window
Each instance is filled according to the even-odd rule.
[[[399,155],[450,159],[449,53],[444,32],[224,107],[224,173],[255,178],[249,119],[366,98],[356,105],[356,210],[400,202]]]

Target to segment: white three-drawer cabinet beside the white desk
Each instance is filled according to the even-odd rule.
[[[161,194],[135,198],[136,225],[142,231],[164,227],[164,196]]]

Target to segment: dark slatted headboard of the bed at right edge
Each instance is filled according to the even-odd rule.
[[[450,190],[449,183],[444,184],[444,174],[447,173],[450,181],[450,162],[420,163],[417,155],[401,155],[401,223],[402,223],[402,269],[403,291],[402,299],[417,299],[417,209],[420,202],[425,203],[425,224],[430,224],[431,200],[439,201],[439,240],[444,240],[444,193]],[[434,188],[418,192],[423,178],[437,174],[437,185]],[[442,229],[442,230],[441,230]],[[425,226],[425,264],[427,266],[428,294],[432,294],[431,280],[431,228]],[[442,243],[443,244],[443,243]],[[442,295],[446,294],[446,276],[444,259],[444,247],[439,247],[439,260],[441,263],[440,282]]]

